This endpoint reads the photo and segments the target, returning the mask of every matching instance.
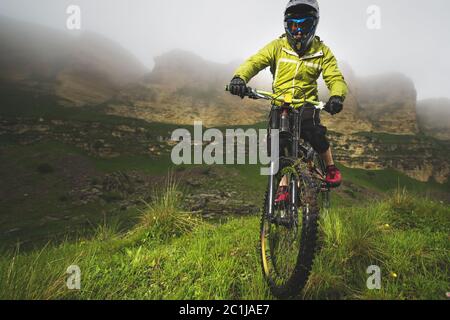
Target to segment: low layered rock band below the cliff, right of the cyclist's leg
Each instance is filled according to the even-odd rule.
[[[375,133],[332,133],[330,139],[335,158],[352,168],[393,168],[422,182],[446,183],[450,176],[450,142]]]

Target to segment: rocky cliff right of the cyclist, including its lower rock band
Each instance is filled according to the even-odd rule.
[[[393,168],[422,182],[446,183],[450,101],[417,103],[413,82],[400,74],[357,78],[348,65],[342,70],[350,88],[344,112],[322,117],[333,131],[335,158],[352,168]],[[321,95],[327,99],[323,85]]]

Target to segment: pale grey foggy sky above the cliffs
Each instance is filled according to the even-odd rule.
[[[111,38],[146,66],[171,49],[208,60],[243,60],[283,33],[287,0],[0,0],[0,14],[67,30],[66,9],[81,8],[81,30]],[[401,72],[419,99],[450,97],[450,2],[321,0],[318,35],[359,76]],[[367,9],[381,9],[369,29]]]

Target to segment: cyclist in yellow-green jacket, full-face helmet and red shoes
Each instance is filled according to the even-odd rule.
[[[348,88],[333,53],[316,36],[319,16],[316,0],[289,1],[284,13],[286,33],[236,70],[229,86],[230,92],[244,98],[246,84],[261,70],[270,67],[275,94],[289,90],[294,98],[318,101],[317,79],[322,74],[331,96],[325,111],[331,115],[340,113]],[[320,124],[320,114],[314,106],[305,105],[303,108],[301,136],[320,154],[327,165],[326,181],[337,188],[341,185],[342,176],[333,160],[326,137],[327,128]],[[282,181],[280,189],[277,202],[288,196],[286,181]]]

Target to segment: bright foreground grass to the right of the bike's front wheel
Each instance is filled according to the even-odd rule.
[[[304,297],[445,299],[449,215],[448,206],[403,191],[366,208],[332,210]],[[366,287],[371,265],[381,268],[381,290]]]

